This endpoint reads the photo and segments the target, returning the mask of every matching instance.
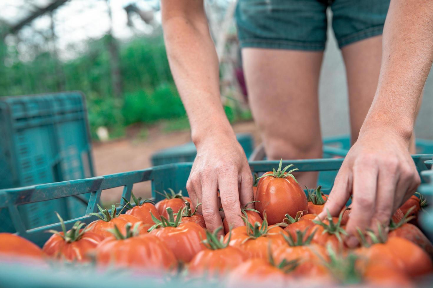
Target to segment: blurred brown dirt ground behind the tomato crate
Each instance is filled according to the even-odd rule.
[[[260,143],[260,136],[254,122],[241,122],[233,125],[236,133],[251,133],[255,145]],[[151,167],[151,155],[172,146],[178,146],[191,141],[190,131],[163,133],[161,127],[149,129],[146,139],[138,139],[132,129],[125,139],[93,144],[93,158],[96,175],[106,175]],[[105,205],[120,201],[123,187],[104,190],[101,202]],[[150,182],[134,185],[134,194],[149,198]]]

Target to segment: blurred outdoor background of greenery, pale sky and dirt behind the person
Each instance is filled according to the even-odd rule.
[[[208,0],[211,35],[221,65],[221,94],[235,132],[251,133],[243,86],[234,0]],[[152,166],[159,150],[191,141],[185,110],[174,85],[158,0],[1,0],[0,98],[79,90],[87,102],[95,175]],[[416,125],[433,139],[431,77]],[[320,78],[323,136],[349,133],[345,70],[333,32]],[[121,189],[104,191],[103,203]],[[150,186],[134,192],[150,196]]]

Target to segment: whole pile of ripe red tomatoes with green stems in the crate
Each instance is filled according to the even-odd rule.
[[[154,204],[136,198],[121,211],[99,208],[98,220],[76,222],[67,231],[51,231],[43,248],[15,234],[0,233],[0,257],[27,257],[97,269],[129,269],[140,275],[218,279],[229,287],[271,284],[330,286],[367,284],[411,287],[433,272],[433,246],[417,227],[426,205],[419,193],[392,217],[389,227],[359,231],[361,246],[344,244],[350,208],[339,217],[316,218],[327,195],[321,187],[307,194],[291,174],[291,165],[265,173],[254,189],[255,201],[242,207],[245,226],[208,231],[191,200],[170,190]],[[126,212],[124,212],[126,209]],[[225,236],[224,236],[225,234]]]

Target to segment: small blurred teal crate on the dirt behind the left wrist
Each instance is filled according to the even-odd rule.
[[[236,138],[238,139],[245,151],[246,157],[248,158],[249,155],[251,155],[254,147],[254,140],[252,139],[251,134],[238,133],[236,134]],[[192,162],[194,161],[195,155],[197,155],[197,150],[195,149],[194,143],[189,142],[184,145],[159,150],[152,155],[151,161],[152,166]]]

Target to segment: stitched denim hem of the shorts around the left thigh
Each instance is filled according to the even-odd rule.
[[[245,39],[240,40],[241,48],[265,48],[265,49],[284,49],[284,50],[303,50],[303,51],[323,51],[325,44],[306,43],[286,40],[266,40],[266,39]]]

